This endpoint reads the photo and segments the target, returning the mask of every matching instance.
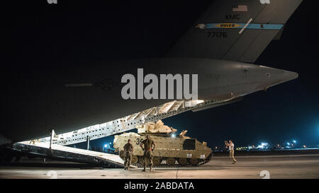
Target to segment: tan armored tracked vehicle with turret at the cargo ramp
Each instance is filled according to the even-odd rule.
[[[134,132],[116,135],[113,146],[124,159],[123,146],[128,139],[134,147],[134,154],[131,159],[133,165],[142,165],[143,151],[140,143],[150,135],[151,139],[157,145],[153,151],[153,164],[155,166],[198,166],[211,160],[211,148],[208,148],[206,142],[199,142],[189,136],[185,136],[187,131],[181,131],[179,136],[175,135],[177,129],[168,127],[161,120],[157,123],[149,122],[137,127],[138,134]]]

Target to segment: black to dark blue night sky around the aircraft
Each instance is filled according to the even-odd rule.
[[[210,1],[42,1],[11,2],[3,28],[8,72],[59,69],[62,65],[106,59],[162,57]],[[163,119],[188,136],[221,146],[271,144],[296,139],[319,144],[318,6],[304,0],[286,23],[281,40],[273,41],[255,64],[296,71],[299,78],[248,95],[240,103]],[[92,146],[105,139],[92,141]]]

